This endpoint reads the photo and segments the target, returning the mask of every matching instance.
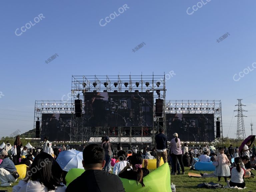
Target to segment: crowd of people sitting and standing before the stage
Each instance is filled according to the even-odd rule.
[[[230,178],[230,186],[245,187],[244,178],[254,178],[252,172],[256,168],[255,145],[250,148],[250,141],[245,144],[239,155],[238,147],[213,146],[199,148],[189,148],[187,143],[181,145],[178,133],[173,134],[173,139],[168,143],[167,137],[162,129],[155,136],[156,147],[148,150],[145,147],[137,150],[132,146],[125,151],[122,144],[117,145],[116,150],[110,143],[109,137],[102,137],[101,144],[90,144],[83,148],[83,167],[85,172],[72,181],[66,187],[65,175],[60,165],[56,162],[56,157],[60,151],[65,151],[65,145],[52,149],[48,137],[44,138],[44,145],[41,150],[28,149],[22,146],[20,137],[17,136],[14,146],[7,141],[6,146],[0,152],[0,186],[11,186],[17,181],[17,169],[15,165],[25,164],[28,166],[26,176],[13,187],[15,192],[23,192],[33,189],[42,191],[72,191],[83,187],[88,191],[124,191],[120,178],[135,180],[138,185],[145,187],[143,177],[149,174],[147,169],[148,159],[156,159],[156,167],[160,166],[160,160],[171,165],[171,174],[185,174],[184,167],[194,170],[194,165],[198,162],[213,162],[215,171],[208,176],[224,177],[225,182]],[[15,154],[10,154],[16,148]],[[55,150],[56,149],[56,150]],[[19,162],[20,158],[20,162]],[[234,158],[234,163],[232,163]],[[144,164],[144,166],[142,166]],[[113,171],[112,171],[113,169]],[[201,173],[205,176],[205,173]]]

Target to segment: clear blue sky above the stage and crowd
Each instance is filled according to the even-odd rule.
[[[223,135],[231,138],[233,110],[243,99],[250,135],[255,6],[254,0],[0,1],[0,136],[32,129],[35,100],[61,100],[72,75],[170,71],[176,75],[166,82],[166,99],[221,100]]]

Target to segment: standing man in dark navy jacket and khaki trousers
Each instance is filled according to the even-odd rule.
[[[156,168],[160,166],[161,157],[164,163],[167,162],[167,137],[163,129],[159,129],[159,134],[155,136],[156,141]]]

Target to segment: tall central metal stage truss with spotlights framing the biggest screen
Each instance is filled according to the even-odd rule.
[[[164,75],[116,75],[116,76],[72,76],[72,103],[82,100],[82,115],[76,117],[71,113],[71,141],[100,143],[103,136],[109,136],[112,143],[155,144],[154,138],[158,128],[165,129],[164,105],[162,116],[155,115],[153,106],[153,127],[85,127],[83,124],[85,92],[153,92],[155,99],[163,99],[165,103]],[[142,124],[141,124],[142,125]]]

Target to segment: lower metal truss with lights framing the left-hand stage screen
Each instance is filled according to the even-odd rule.
[[[42,114],[71,114],[75,113],[75,105],[71,100],[36,100],[35,101],[35,115],[34,115],[34,131],[36,132],[36,121],[40,121],[40,135],[42,129]],[[36,134],[35,134],[36,138]],[[38,145],[40,138],[38,140]],[[63,141],[64,142],[64,141]]]

